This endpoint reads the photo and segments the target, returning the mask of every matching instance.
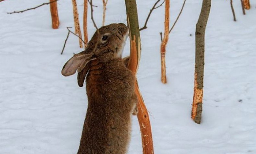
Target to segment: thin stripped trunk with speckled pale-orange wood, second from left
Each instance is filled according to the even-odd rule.
[[[80,38],[82,38],[80,25],[79,25],[79,18],[78,18],[76,0],[72,0],[72,4],[73,4],[73,14],[74,14],[74,22],[75,22],[75,33],[78,34]],[[82,43],[81,39],[79,39],[79,46],[80,46],[80,48],[83,47],[83,43]]]

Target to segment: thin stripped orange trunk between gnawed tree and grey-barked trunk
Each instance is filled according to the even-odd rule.
[[[170,1],[165,1],[165,22],[164,22],[164,39],[161,43],[160,51],[161,51],[161,81],[162,83],[166,83],[166,67],[165,67],[165,52],[166,52],[166,44],[168,43],[169,38],[169,11],[170,11]]]

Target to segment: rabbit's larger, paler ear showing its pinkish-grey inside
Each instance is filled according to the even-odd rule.
[[[81,72],[86,67],[86,64],[90,60],[92,60],[92,55],[93,53],[85,52],[85,51],[75,54],[63,66],[63,69],[61,71],[62,75],[64,76],[73,75],[76,73],[77,69],[78,69],[78,72]]]

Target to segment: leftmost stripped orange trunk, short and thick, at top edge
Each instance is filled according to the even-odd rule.
[[[50,0],[50,2],[52,1],[54,0]],[[57,2],[50,3],[50,9],[51,9],[51,16],[52,16],[52,28],[58,29],[60,21],[58,16]]]

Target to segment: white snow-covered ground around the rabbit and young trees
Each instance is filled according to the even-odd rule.
[[[0,153],[74,154],[77,152],[87,109],[85,88],[76,75],[61,69],[82,51],[78,39],[67,34],[74,27],[71,1],[58,1],[60,27],[51,28],[49,6],[22,14],[6,14],[34,7],[44,0],[0,2]],[[94,1],[94,18],[102,22],[102,1]],[[143,26],[155,0],[137,0]],[[182,0],[171,1],[171,25]],[[160,35],[164,5],[152,13],[141,32],[142,56],[137,74],[150,111],[156,154],[256,154],[256,1],[242,14],[234,1],[212,0],[206,29],[204,104],[200,125],[190,119],[193,97],[195,24],[201,1],[187,0],[167,46],[168,83],[160,82]],[[77,0],[80,24],[83,1]],[[124,1],[110,0],[106,24],[126,23]],[[82,25],[81,25],[82,26]],[[73,28],[74,29],[74,28]],[[89,38],[95,28],[88,19]],[[190,36],[192,34],[192,36]],[[124,50],[129,54],[129,41]],[[136,117],[129,154],[142,152]]]

